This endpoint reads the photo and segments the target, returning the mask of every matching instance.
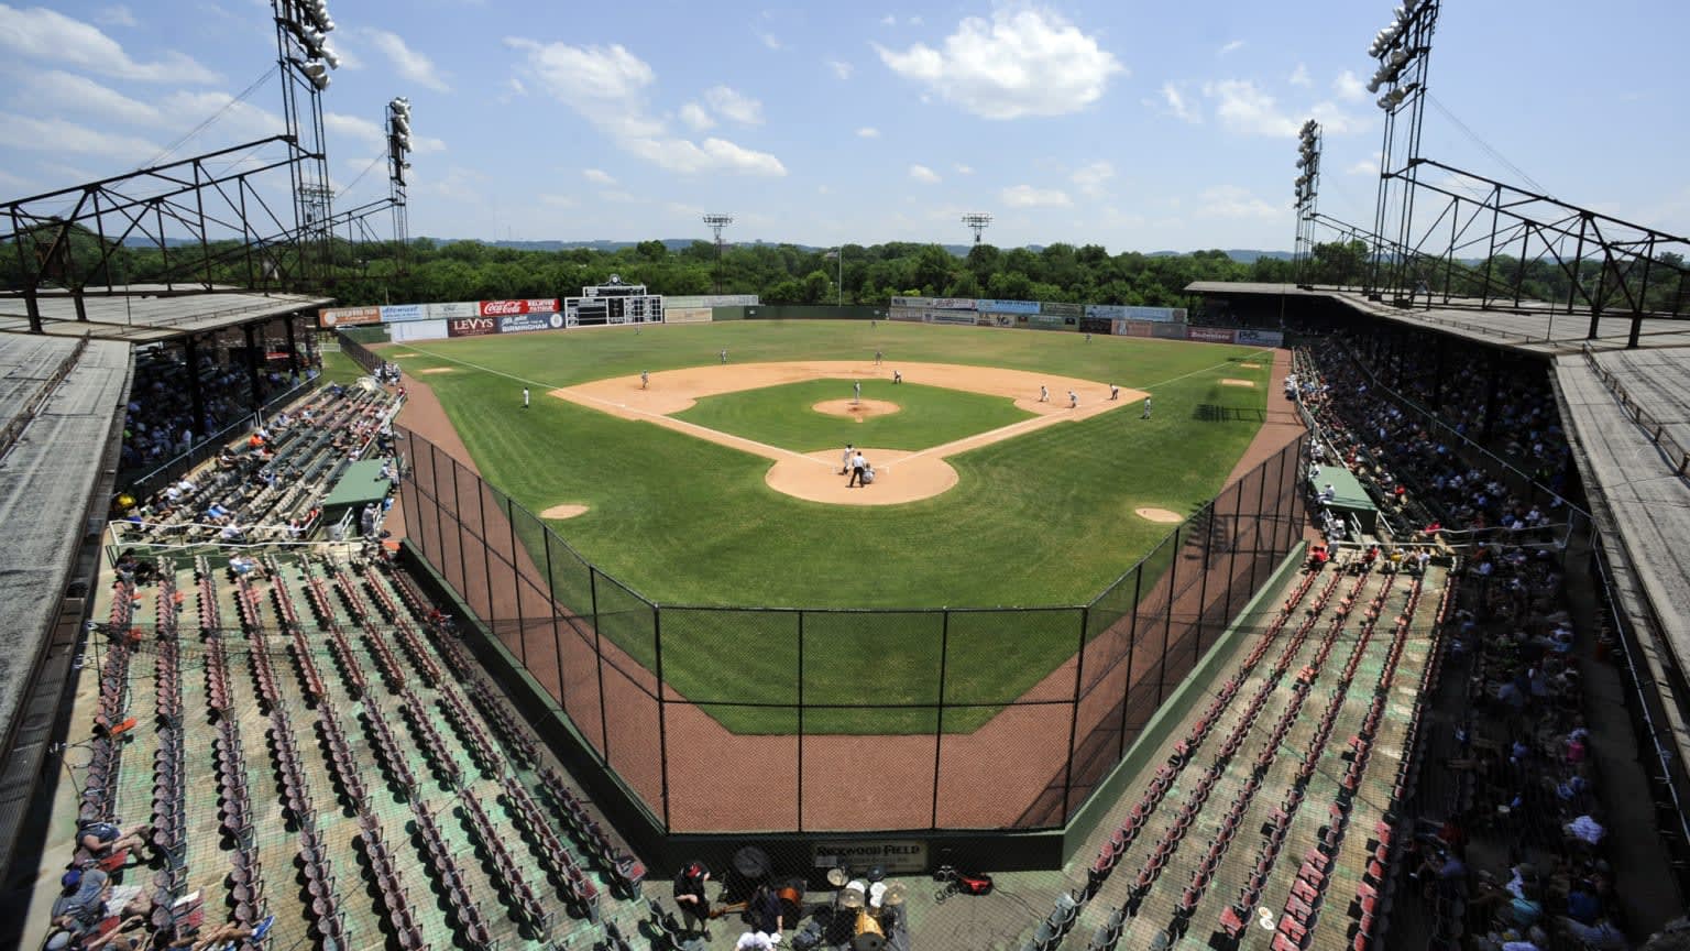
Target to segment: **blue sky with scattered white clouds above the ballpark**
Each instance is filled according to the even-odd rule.
[[[965,244],[984,212],[1000,247],[1289,250],[1308,117],[1320,210],[1372,222],[1384,0],[328,8],[336,208],[387,193],[406,95],[412,237],[706,239],[708,212],[740,242]],[[1448,0],[1421,154],[1690,234],[1687,34],[1685,3]],[[0,3],[0,195],[277,134],[274,66],[269,0]]]

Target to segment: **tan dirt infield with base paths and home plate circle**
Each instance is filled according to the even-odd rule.
[[[840,476],[840,452],[793,452],[757,440],[735,437],[698,423],[674,418],[695,406],[705,396],[764,389],[811,379],[892,379],[892,371],[904,374],[904,382],[982,393],[1012,399],[1016,406],[1034,413],[1031,420],[975,433],[960,440],[918,452],[891,448],[864,448],[864,457],[874,464],[875,482],[869,487],[845,487]],[[1049,393],[1049,401],[1039,403],[1039,388]],[[1070,408],[1068,391],[1078,398],[1078,408]],[[1119,406],[1137,403],[1142,389],[1120,389],[1119,399],[1109,398],[1109,384],[1090,379],[1051,376],[1002,367],[965,367],[958,364],[892,364],[874,366],[870,360],[794,360],[781,364],[711,364],[651,374],[642,384],[637,376],[598,379],[580,386],[553,389],[551,396],[592,406],[625,420],[646,420],[701,440],[728,445],[740,452],[760,455],[774,462],[766,482],[777,492],[852,506],[891,506],[933,497],[957,484],[957,470],[946,457],[1031,433],[1063,420],[1087,420]],[[870,401],[872,403],[872,401]]]

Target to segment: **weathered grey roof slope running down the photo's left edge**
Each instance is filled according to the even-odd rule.
[[[24,420],[0,455],[0,736],[19,714],[74,552],[91,530],[90,514],[105,518],[105,504],[91,506],[91,496],[117,462],[113,432],[128,401],[130,347],[88,340],[63,382],[49,388],[79,344],[0,333],[0,426]]]

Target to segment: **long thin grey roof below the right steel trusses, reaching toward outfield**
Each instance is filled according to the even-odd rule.
[[[1452,306],[1399,308],[1367,300],[1360,291],[1335,288],[1305,289],[1296,284],[1254,284],[1232,281],[1191,281],[1190,294],[1213,296],[1264,296],[1264,298],[1325,298],[1359,313],[1393,320],[1409,327],[1440,330],[1489,347],[1509,347],[1533,354],[1578,354],[1585,344],[1597,350],[1621,349],[1631,333],[1629,316],[1604,316],[1595,340],[1585,340],[1590,332],[1590,315],[1550,313],[1543,308],[1521,306],[1518,311],[1467,310]],[[1474,301],[1479,303],[1477,300]],[[1643,347],[1690,347],[1690,320],[1646,318],[1639,337]]]

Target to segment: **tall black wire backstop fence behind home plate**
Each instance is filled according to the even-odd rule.
[[[1300,438],[1087,604],[676,606],[397,435],[416,552],[666,833],[1061,827],[1306,514]],[[1048,665],[989,677],[1006,645]]]

